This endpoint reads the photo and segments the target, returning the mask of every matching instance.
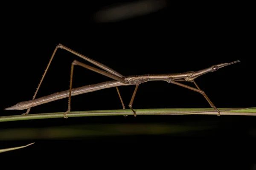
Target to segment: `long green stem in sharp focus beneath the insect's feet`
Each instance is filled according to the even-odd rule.
[[[219,108],[221,115],[243,115],[256,116],[256,108]],[[135,109],[139,115],[217,115],[217,112],[212,108],[172,108],[172,109]],[[63,118],[64,112],[58,113],[38,113],[16,116],[1,116],[0,122],[31,120],[31,119],[49,119]],[[83,117],[83,116],[125,116],[134,115],[130,109],[126,110],[102,110],[102,111],[76,111],[67,114],[67,117]]]

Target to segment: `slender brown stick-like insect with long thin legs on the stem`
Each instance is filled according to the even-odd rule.
[[[94,68],[92,66],[86,65],[82,62],[79,62],[77,60],[74,60],[71,64],[71,72],[70,72],[70,88],[67,91],[61,91],[61,92],[57,92],[55,94],[51,94],[48,96],[44,96],[44,97],[40,97],[38,99],[35,99],[36,94],[38,93],[38,90],[41,86],[41,83],[43,82],[43,79],[45,77],[45,74],[47,73],[47,70],[49,68],[49,65],[52,62],[52,59],[57,51],[58,48],[64,49],[66,51],[69,51],[73,54],[75,54],[78,57],[81,57],[82,59],[87,60],[88,62],[98,66],[99,68],[102,68],[103,70],[100,70],[98,68]],[[93,92],[93,91],[98,91],[101,89],[105,89],[105,88],[112,88],[112,87],[116,87],[117,93],[119,95],[119,98],[121,100],[122,103],[122,107],[123,109],[125,109],[125,105],[122,101],[122,97],[119,93],[118,90],[118,86],[122,86],[122,85],[136,85],[135,89],[134,89],[134,93],[131,97],[131,101],[129,103],[129,108],[133,111],[134,116],[136,116],[136,111],[132,108],[132,104],[134,102],[134,98],[137,92],[137,89],[139,87],[139,85],[141,83],[144,82],[148,82],[148,81],[166,81],[175,85],[179,85],[181,87],[184,88],[188,88],[192,91],[196,91],[200,94],[202,94],[204,96],[204,98],[207,100],[207,102],[209,102],[209,105],[215,109],[215,111],[218,112],[218,116],[220,116],[220,111],[215,107],[215,105],[211,102],[211,100],[208,98],[208,96],[204,93],[204,91],[202,91],[198,85],[195,83],[195,79],[203,74],[209,73],[209,72],[213,72],[213,71],[217,71],[219,68],[225,67],[227,65],[231,65],[234,64],[236,62],[240,62],[239,60],[234,61],[234,62],[229,62],[229,63],[221,63],[218,65],[213,65],[212,67],[200,70],[200,71],[188,71],[185,73],[178,73],[178,74],[145,74],[145,75],[136,75],[136,76],[127,76],[124,77],[122,76],[122,74],[119,74],[118,72],[114,71],[113,69],[107,67],[106,65],[103,65],[100,62],[97,62],[93,59],[90,59],[88,57],[85,57],[82,54],[79,54],[76,51],[73,51],[70,48],[65,47],[64,45],[57,45],[55,50],[53,51],[52,57],[47,65],[46,70],[44,71],[43,77],[38,85],[38,88],[35,91],[35,94],[32,98],[32,100],[29,101],[25,101],[25,102],[19,102],[16,105],[6,108],[5,110],[24,110],[24,109],[28,109],[26,111],[26,113],[23,114],[29,114],[29,111],[32,107],[35,107],[37,105],[41,105],[44,103],[48,103],[48,102],[52,102],[58,99],[63,99],[68,97],[68,108],[67,111],[64,113],[64,118],[67,118],[67,113],[70,112],[70,108],[71,108],[71,96],[75,96],[75,95],[79,95],[79,94],[84,94],[84,93],[89,93],[89,92]],[[72,81],[73,81],[73,70],[74,70],[74,66],[75,65],[79,65],[81,67],[87,68],[91,71],[95,71],[96,73],[102,74],[104,76],[110,77],[111,79],[113,79],[112,81],[107,81],[107,82],[102,82],[102,83],[98,83],[98,84],[94,84],[94,85],[86,85],[83,87],[79,87],[79,88],[72,88]],[[194,83],[196,88],[193,88],[191,86],[188,85],[184,85],[180,82],[192,82]]]

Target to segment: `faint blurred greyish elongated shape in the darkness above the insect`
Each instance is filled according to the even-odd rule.
[[[97,23],[117,22],[150,14],[166,6],[166,0],[140,0],[132,3],[122,3],[97,11],[93,15],[93,20]]]

